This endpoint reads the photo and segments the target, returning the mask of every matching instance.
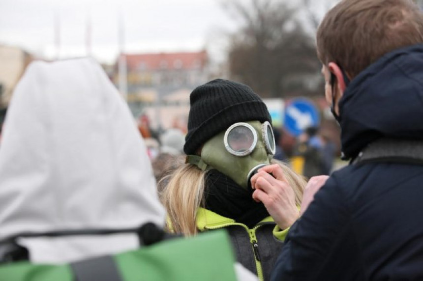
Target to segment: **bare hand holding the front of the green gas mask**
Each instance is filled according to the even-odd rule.
[[[281,229],[288,228],[298,219],[300,212],[295,203],[294,190],[288,184],[279,165],[259,169],[251,177],[251,187],[255,189],[253,199],[263,202]]]

